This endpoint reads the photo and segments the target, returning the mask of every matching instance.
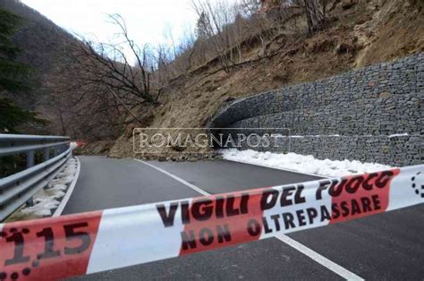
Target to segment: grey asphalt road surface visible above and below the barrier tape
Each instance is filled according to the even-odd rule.
[[[169,175],[132,159],[81,157],[80,179],[64,214],[199,196]],[[148,162],[208,193],[299,183],[318,177],[229,161]],[[330,264],[365,279],[424,278],[424,206],[288,236],[79,277],[104,279],[342,279]],[[302,248],[303,248],[302,246]],[[304,252],[304,251],[303,251]],[[320,254],[328,260],[318,263]],[[344,276],[346,277],[346,276]]]

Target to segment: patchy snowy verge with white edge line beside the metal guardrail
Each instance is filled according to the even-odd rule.
[[[60,216],[71,197],[80,175],[81,163],[76,157],[70,158],[64,169],[33,197],[34,206],[23,205],[7,219],[7,222]]]

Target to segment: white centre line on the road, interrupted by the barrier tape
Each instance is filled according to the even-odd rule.
[[[199,192],[202,195],[205,195],[205,196],[212,195],[208,192],[201,190],[196,185],[189,183],[187,181],[184,181],[182,178],[165,171],[164,169],[161,169],[157,166],[154,166],[154,165],[152,165],[148,162],[142,161],[140,159],[134,159],[134,160],[136,160],[136,161],[138,161],[138,162],[140,162],[144,165],[150,166],[150,167],[156,169],[157,171],[162,172],[165,175],[172,177],[174,180],[190,187],[192,190]],[[300,251],[302,254],[309,257],[311,260],[315,260],[316,262],[318,262],[323,267],[333,271],[335,274],[337,274],[340,277],[343,277],[346,280],[364,280],[363,278],[357,276],[356,274],[347,270],[346,268],[343,268],[343,267],[339,266],[338,264],[336,264],[335,262],[326,259],[326,257],[318,254],[318,252],[311,250],[310,248],[308,248],[307,246],[305,246],[301,243],[298,243],[297,241],[293,240],[292,238],[290,238],[287,235],[276,234],[275,237],[276,237],[276,239],[280,240],[283,243],[286,243],[287,245],[291,246],[293,249]]]

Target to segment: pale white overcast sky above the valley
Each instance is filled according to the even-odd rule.
[[[84,37],[96,35],[106,42],[114,27],[107,13],[119,13],[125,19],[131,38],[139,45],[164,42],[164,30],[177,40],[184,29],[197,20],[190,0],[21,0],[59,26]]]

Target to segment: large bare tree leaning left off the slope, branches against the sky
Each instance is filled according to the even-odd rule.
[[[85,45],[75,53],[77,62],[88,73],[81,77],[81,83],[113,89],[118,101],[129,98],[134,102],[157,104],[160,86],[157,81],[151,81],[151,49],[148,45],[140,48],[134,43],[119,14],[109,15],[109,19],[119,28],[118,36],[123,41],[118,44],[85,41]],[[152,84],[155,86],[152,87]]]

